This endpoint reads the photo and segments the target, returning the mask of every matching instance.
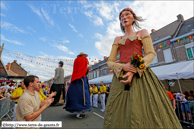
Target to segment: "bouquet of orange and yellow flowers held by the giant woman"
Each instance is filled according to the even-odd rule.
[[[144,60],[137,53],[133,54],[133,56],[130,59],[131,59],[131,64],[135,68],[138,67],[140,69],[143,69],[145,67]]]

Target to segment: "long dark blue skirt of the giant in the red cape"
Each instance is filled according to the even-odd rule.
[[[90,111],[90,92],[87,77],[71,82],[67,91],[64,109],[72,113]]]

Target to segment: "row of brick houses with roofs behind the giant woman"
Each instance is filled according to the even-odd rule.
[[[157,55],[150,67],[194,59],[193,23],[194,17],[184,20],[184,17],[179,14],[177,20],[172,23],[159,30],[151,30],[150,35]],[[88,74],[89,80],[113,74],[113,71],[106,64],[107,59],[104,57],[103,61],[92,66]]]

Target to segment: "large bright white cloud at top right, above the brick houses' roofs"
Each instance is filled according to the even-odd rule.
[[[173,6],[172,6],[173,5]],[[184,5],[184,6],[183,6]],[[141,8],[139,8],[141,6]],[[186,19],[192,17],[192,1],[138,1],[132,4],[137,16],[146,19],[141,23],[142,28],[151,32],[151,29],[160,29],[177,20],[177,15],[182,14]]]

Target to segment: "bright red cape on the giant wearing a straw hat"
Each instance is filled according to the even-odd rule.
[[[86,77],[88,59],[86,57],[78,57],[74,61],[73,74],[71,77],[71,82],[81,77]]]

